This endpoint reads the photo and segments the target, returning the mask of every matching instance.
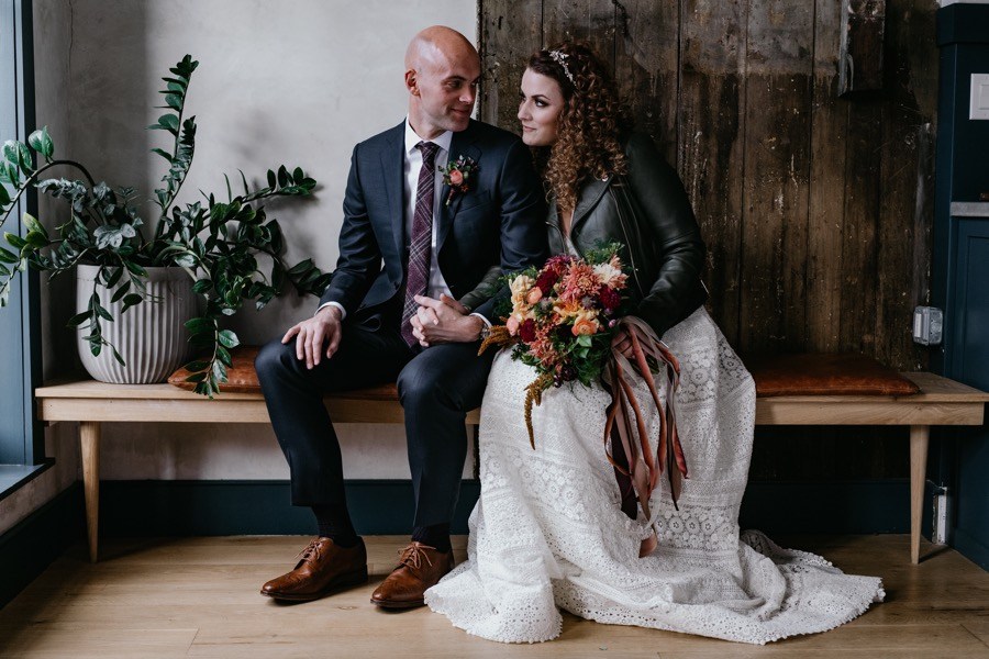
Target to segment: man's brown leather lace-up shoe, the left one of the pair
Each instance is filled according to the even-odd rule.
[[[367,549],[358,538],[349,548],[330,538],[313,538],[299,555],[296,568],[262,587],[262,594],[276,600],[309,602],[331,591],[367,581]]]

